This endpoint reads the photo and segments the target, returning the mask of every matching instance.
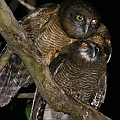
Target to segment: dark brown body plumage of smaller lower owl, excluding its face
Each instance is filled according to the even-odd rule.
[[[67,95],[90,103],[90,100],[96,93],[103,96],[105,94],[106,59],[99,56],[95,61],[87,61],[76,51],[73,52],[74,43],[61,49],[60,55],[50,64],[50,71],[55,82]],[[76,42],[76,45],[78,44]]]

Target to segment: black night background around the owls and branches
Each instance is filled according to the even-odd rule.
[[[37,6],[53,2],[59,3],[55,0],[37,0]],[[92,3],[102,16],[102,22],[108,28],[111,34],[112,42],[112,57],[108,63],[108,88],[105,103],[102,104],[100,111],[113,120],[120,120],[120,1],[119,0],[88,0]],[[6,0],[9,4],[10,0]],[[20,5],[14,12],[17,20],[20,20],[27,14],[27,9]],[[1,38],[2,39],[2,38]],[[34,92],[34,85],[21,91],[32,90]],[[16,101],[14,105],[13,102]],[[16,100],[4,108],[0,108],[0,120],[26,120],[25,106],[27,100]],[[11,104],[13,111],[11,110]],[[12,116],[12,117],[11,117]]]

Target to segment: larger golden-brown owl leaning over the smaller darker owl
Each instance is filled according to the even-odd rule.
[[[97,10],[83,0],[67,0],[57,5],[54,3],[42,5],[19,22],[27,32],[28,38],[33,41],[35,48],[41,52],[42,57],[48,65],[56,57],[56,53],[60,51],[61,47],[71,44],[78,39],[88,39],[88,41],[95,42],[100,47],[102,46],[102,56],[106,61],[109,61],[111,55],[109,32],[100,22],[100,15]],[[16,63],[17,61],[14,64]],[[13,85],[12,74],[15,73],[18,75],[18,72],[12,70],[15,68],[14,64],[11,63],[13,66],[11,67],[8,62],[4,68],[8,69],[11,67],[9,68],[11,72],[5,72],[5,74],[9,75],[9,79],[6,78],[5,81],[7,82],[8,79],[8,82],[11,82],[11,86],[9,87],[8,84],[3,84],[3,80],[1,81],[5,76],[0,79],[0,89],[7,88],[10,93],[0,91],[1,104],[4,105],[8,103],[5,102],[4,98],[8,96],[6,98],[10,101],[18,91],[18,89],[15,90],[15,87],[17,88],[19,85],[20,88],[23,86],[20,83],[24,83],[23,79],[19,79],[19,81],[14,79],[17,84]],[[21,70],[26,71],[26,67],[23,67]],[[0,72],[1,76],[3,76],[2,71]],[[25,77],[27,78],[28,76],[29,74]]]

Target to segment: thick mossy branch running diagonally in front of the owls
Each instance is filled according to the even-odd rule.
[[[0,0],[0,32],[6,39],[9,49],[14,50],[24,61],[40,94],[51,107],[67,113],[76,120],[110,120],[90,106],[68,98],[52,81],[44,59],[34,48],[32,41],[27,39],[24,29],[15,20],[4,0]]]

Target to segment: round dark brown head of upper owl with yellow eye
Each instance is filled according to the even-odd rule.
[[[99,27],[100,15],[89,3],[68,0],[60,5],[59,20],[62,29],[72,38],[87,38]]]

